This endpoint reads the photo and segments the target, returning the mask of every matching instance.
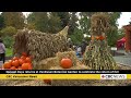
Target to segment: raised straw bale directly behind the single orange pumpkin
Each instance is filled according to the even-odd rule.
[[[59,63],[63,58],[69,58],[72,60],[73,65],[76,65],[76,54],[75,51],[64,51],[64,52],[57,52],[56,57],[58,58]]]

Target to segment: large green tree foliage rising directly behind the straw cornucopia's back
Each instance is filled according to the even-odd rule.
[[[27,17],[28,28],[44,33],[57,33],[61,29],[61,20],[56,12],[33,12]]]

